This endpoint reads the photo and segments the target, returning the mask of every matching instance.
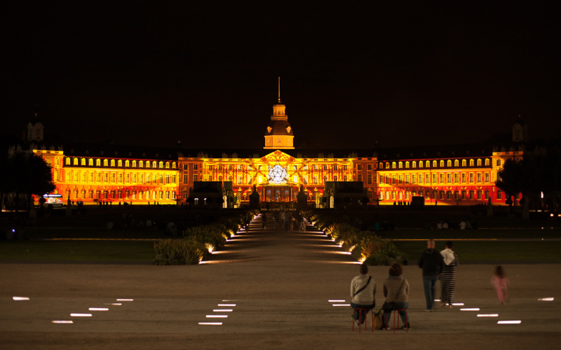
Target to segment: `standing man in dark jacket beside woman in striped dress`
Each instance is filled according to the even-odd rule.
[[[434,239],[426,241],[426,251],[419,257],[419,267],[423,269],[423,288],[425,290],[426,311],[433,311],[436,281],[442,274],[444,259],[434,248]]]

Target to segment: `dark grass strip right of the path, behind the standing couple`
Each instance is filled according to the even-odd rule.
[[[410,265],[417,263],[424,241],[395,241]],[[444,248],[437,241],[436,248]],[[454,250],[461,262],[561,262],[561,241],[455,241]]]

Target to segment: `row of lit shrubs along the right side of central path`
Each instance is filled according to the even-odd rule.
[[[383,239],[372,231],[360,231],[349,224],[348,216],[337,217],[318,211],[306,211],[304,216],[334,239],[335,243],[351,251],[351,256],[356,260],[364,261],[368,265],[391,265],[404,260],[392,241]]]

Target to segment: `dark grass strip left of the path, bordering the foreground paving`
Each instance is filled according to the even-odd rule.
[[[2,241],[1,261],[154,260],[153,241]]]

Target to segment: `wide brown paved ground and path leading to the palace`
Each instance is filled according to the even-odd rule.
[[[198,266],[1,264],[1,344],[6,349],[438,349],[454,342],[459,349],[527,349],[539,340],[541,349],[556,349],[561,340],[559,282],[552,278],[561,272],[558,265],[509,265],[512,299],[502,307],[489,283],[492,266],[461,266],[456,301],[480,311],[456,307],[431,314],[423,311],[419,269],[405,267],[412,331],[353,334],[349,307],[334,304],[349,303],[356,261],[321,232],[283,232],[272,227],[271,218],[268,223],[262,230],[257,218],[248,232]],[[379,305],[387,269],[370,271]],[[496,323],[507,320],[522,323]]]

